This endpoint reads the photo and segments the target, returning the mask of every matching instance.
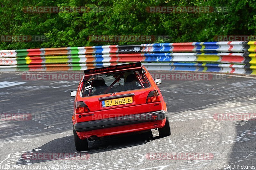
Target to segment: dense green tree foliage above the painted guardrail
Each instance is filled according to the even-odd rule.
[[[170,42],[202,42],[213,41],[216,35],[255,35],[256,27],[254,0],[1,0],[0,5],[1,36],[47,37],[46,42],[0,42],[1,50],[144,43],[90,42],[91,35],[168,35]],[[86,6],[103,10],[25,13],[24,6]],[[148,13],[148,6],[225,6],[228,12]]]

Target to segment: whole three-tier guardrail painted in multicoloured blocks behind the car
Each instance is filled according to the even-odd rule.
[[[256,74],[256,41],[0,51],[1,71],[66,71],[142,61],[149,70]]]

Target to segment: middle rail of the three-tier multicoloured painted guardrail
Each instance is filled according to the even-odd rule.
[[[250,54],[251,55],[251,54]],[[252,56],[252,55],[251,55]],[[138,53],[138,54],[96,54],[96,55],[62,55],[43,57],[0,58],[17,60],[16,64],[61,64],[61,63],[115,63],[115,62],[218,62],[248,64],[255,62],[255,57],[245,53]],[[251,61],[253,60],[253,61]],[[5,65],[8,65],[5,64]],[[12,65],[12,64],[10,64]]]

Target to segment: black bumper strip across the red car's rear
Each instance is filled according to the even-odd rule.
[[[104,128],[111,128],[111,127],[124,126],[124,125],[130,125],[130,124],[164,120],[166,116],[167,116],[167,112],[165,110],[160,110],[160,111],[141,113],[136,115],[128,115],[128,116],[122,116],[122,117],[80,122],[80,123],[74,124],[74,129],[77,132],[92,131],[92,130],[99,130]]]

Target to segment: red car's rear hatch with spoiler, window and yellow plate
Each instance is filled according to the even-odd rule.
[[[77,101],[83,101],[89,111],[80,121],[161,110],[160,106],[151,107],[152,103],[147,103],[153,90],[156,89],[140,62],[85,70]]]

